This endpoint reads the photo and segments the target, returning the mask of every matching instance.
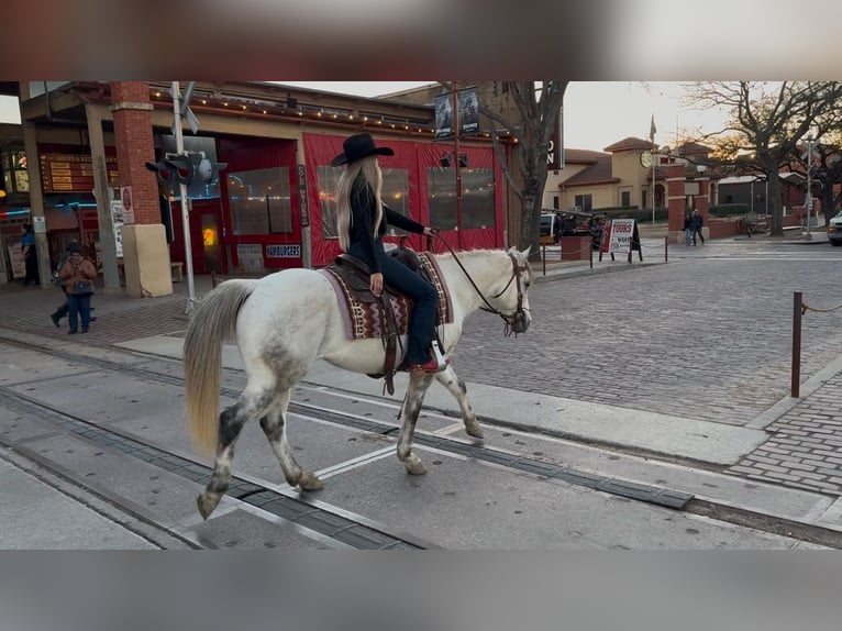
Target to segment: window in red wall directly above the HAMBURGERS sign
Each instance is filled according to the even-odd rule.
[[[225,177],[234,234],[292,232],[289,168],[244,170]]]

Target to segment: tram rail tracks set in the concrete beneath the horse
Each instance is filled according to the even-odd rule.
[[[5,344],[25,347],[30,351],[45,353],[68,362],[88,365],[96,369],[120,372],[140,379],[152,380],[169,386],[184,386],[184,379],[181,377],[151,369],[148,367],[124,364],[64,348],[52,348],[48,346],[32,345],[30,343],[23,344],[1,334],[0,341]],[[147,356],[142,353],[125,353],[133,356],[148,357],[149,359],[167,361],[163,357]],[[240,395],[240,391],[223,386],[221,394],[226,397],[235,398]],[[204,484],[210,477],[209,467],[199,464],[187,455],[168,451],[159,445],[143,441],[134,435],[128,435],[119,430],[102,428],[91,421],[68,414],[55,407],[45,405],[26,397],[25,395],[21,395],[10,388],[0,386],[0,402],[3,402],[7,406],[16,406],[18,409],[25,410],[29,413],[47,414],[52,417],[54,422],[64,431],[71,432],[75,435],[84,438],[86,441],[118,450],[121,453],[136,457],[154,466],[158,466],[170,473],[175,473],[176,475],[197,484]],[[363,418],[353,413],[325,409],[306,402],[290,402],[289,411],[299,416],[317,418],[328,423],[394,438],[396,440],[399,431],[399,428],[395,422]],[[1,438],[0,442],[2,442]],[[416,443],[446,454],[494,463],[498,466],[519,473],[561,480],[676,510],[714,516],[722,521],[732,521],[733,523],[743,525],[752,525],[752,522],[754,522],[755,525],[756,523],[760,523],[762,525],[761,529],[768,532],[779,534],[783,532],[791,533],[797,531],[799,536],[805,541],[820,544],[829,544],[829,542],[832,542],[830,544],[834,547],[839,546],[842,541],[842,536],[840,536],[839,533],[821,532],[823,529],[819,527],[809,527],[787,520],[772,520],[768,516],[758,516],[758,519],[754,520],[752,519],[751,513],[730,510],[728,507],[718,506],[716,502],[707,500],[700,501],[695,499],[691,494],[665,487],[630,483],[610,476],[595,475],[590,472],[578,471],[574,467],[563,466],[557,463],[546,462],[524,454],[491,449],[485,445],[430,434],[422,431],[417,433]],[[45,463],[41,464],[44,465]],[[76,481],[77,484],[84,485],[84,480]],[[278,489],[275,485],[272,486],[273,488],[266,485],[261,485],[258,481],[251,478],[251,476],[240,476],[235,473],[232,477],[232,484],[228,495],[232,499],[248,505],[252,508],[267,511],[276,517],[319,533],[321,536],[337,542],[341,546],[356,549],[435,547],[435,545],[430,544],[429,542],[419,541],[406,534],[390,532],[388,527],[372,522],[361,516],[350,513],[340,507],[325,505],[309,497],[301,496],[295,489],[290,488],[285,490]],[[113,498],[110,499],[113,500]],[[195,546],[201,547],[197,542],[193,542],[193,544]]]

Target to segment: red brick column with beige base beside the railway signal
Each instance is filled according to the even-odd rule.
[[[125,289],[133,298],[168,296],[173,280],[158,182],[145,165],[155,159],[149,86],[113,81],[111,103],[120,185],[131,187],[134,209],[134,222],[123,226]]]

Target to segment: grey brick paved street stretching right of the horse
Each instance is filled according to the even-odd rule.
[[[666,265],[536,284],[524,335],[505,339],[477,313],[454,365],[469,381],[745,424],[789,394],[793,291],[817,307],[838,296],[842,253],[767,248],[729,242],[678,259],[676,246]],[[840,342],[842,311],[805,316],[802,380]]]

